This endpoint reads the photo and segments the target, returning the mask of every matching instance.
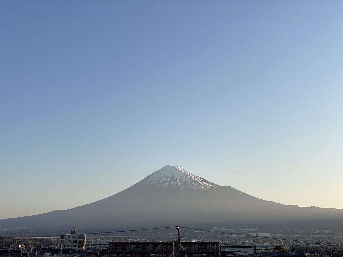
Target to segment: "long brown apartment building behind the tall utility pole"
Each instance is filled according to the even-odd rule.
[[[172,257],[177,256],[174,242],[109,242],[109,257]],[[173,249],[174,248],[174,249]],[[181,242],[181,257],[218,257],[219,243]]]

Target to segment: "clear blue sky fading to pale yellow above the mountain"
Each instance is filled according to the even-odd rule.
[[[166,164],[343,208],[342,1],[1,1],[0,218]]]

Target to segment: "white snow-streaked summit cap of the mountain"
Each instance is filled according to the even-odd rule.
[[[150,174],[145,179],[139,182],[139,186],[146,185],[157,186],[173,186],[185,188],[218,188],[218,185],[196,176],[178,166],[165,166],[162,169]]]

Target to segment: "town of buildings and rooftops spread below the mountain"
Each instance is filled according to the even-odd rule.
[[[2,257],[301,257],[343,256],[343,233],[331,230],[287,230],[271,233],[259,228],[141,230],[120,233],[69,233],[29,236],[31,231],[0,230]],[[37,231],[38,232],[38,231]],[[51,232],[51,231],[46,231]],[[57,233],[57,231],[56,231]],[[59,231],[59,233],[61,233]],[[38,237],[39,236],[39,237]],[[180,247],[178,248],[178,240]],[[280,248],[284,250],[280,250]],[[180,252],[178,252],[180,250]]]

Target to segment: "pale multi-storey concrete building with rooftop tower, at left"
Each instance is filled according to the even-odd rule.
[[[70,234],[60,235],[59,248],[73,251],[83,251],[86,249],[86,234],[76,234],[75,229],[71,229]]]

